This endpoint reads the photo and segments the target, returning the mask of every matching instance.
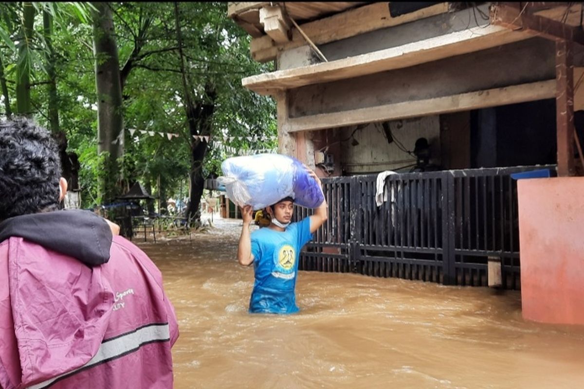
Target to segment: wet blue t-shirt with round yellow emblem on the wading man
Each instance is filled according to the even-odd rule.
[[[283,232],[268,227],[252,232],[255,283],[249,312],[295,313],[296,275],[301,248],[312,239],[310,218],[290,223]]]

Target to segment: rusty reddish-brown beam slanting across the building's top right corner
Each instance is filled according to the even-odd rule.
[[[491,8],[491,23],[511,30],[526,33],[554,41],[568,40],[584,45],[584,31],[565,23],[537,15],[529,15],[520,3],[497,3]]]

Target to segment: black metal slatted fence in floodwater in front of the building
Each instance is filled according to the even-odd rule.
[[[391,174],[380,206],[377,175],[324,178],[329,219],[301,253],[300,269],[486,286],[488,258],[496,257],[503,286],[519,289],[517,184],[510,174],[537,169]],[[297,218],[310,212],[297,208]]]

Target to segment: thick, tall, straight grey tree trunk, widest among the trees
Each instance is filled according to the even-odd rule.
[[[98,153],[109,153],[99,187],[102,202],[110,202],[119,195],[117,159],[123,155],[124,142],[120,65],[109,3],[96,2],[93,6],[97,9],[92,11],[92,15],[98,92]]]

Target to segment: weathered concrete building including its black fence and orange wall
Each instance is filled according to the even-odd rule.
[[[522,268],[532,269],[542,256],[551,256],[576,269],[573,282],[584,281],[582,254],[566,257],[557,251],[568,245],[571,253],[583,253],[578,230],[558,236],[557,231],[565,232],[565,215],[551,209],[555,205],[564,209],[565,197],[557,195],[562,184],[569,185],[570,193],[584,190],[582,178],[575,177],[582,175],[584,165],[580,150],[584,137],[578,137],[575,127],[575,122],[584,125],[575,115],[584,110],[582,3],[232,2],[228,13],[251,35],[251,56],[260,62],[275,61],[276,71],[245,78],[242,85],[277,101],[279,152],[317,167],[324,177],[424,172],[388,178],[388,190],[405,193],[406,185],[411,188],[411,197],[399,209],[383,205],[367,210],[363,204],[375,190],[362,185],[370,178],[350,184],[353,189],[347,189],[346,196],[351,201],[338,194],[349,181],[331,181],[337,192],[331,189],[329,195],[340,197],[329,200],[347,202],[343,209],[331,209],[332,230],[349,223],[352,209],[358,208],[362,217],[360,223],[352,219],[352,233],[347,230],[344,237],[327,230],[319,238],[322,247],[315,248],[314,255],[321,262],[336,258],[346,260],[347,271],[428,279],[428,269],[420,275],[412,267],[417,266],[415,260],[430,261],[434,255],[440,268],[437,276],[430,276],[432,281],[491,285],[489,258],[498,256],[503,285],[519,288],[520,235]],[[537,204],[529,192],[522,194],[520,183],[517,205],[515,184],[503,183],[517,170],[480,170],[538,165],[554,165],[552,176],[558,177],[530,180],[529,190],[543,194]],[[453,178],[433,173],[453,169],[458,171],[451,173]],[[443,184],[432,187],[425,180]],[[374,180],[367,182],[374,185]],[[357,184],[361,197],[349,194]],[[425,206],[434,199],[432,190],[444,190],[435,199],[446,199],[438,212],[444,212],[443,217],[427,218],[433,223],[427,233],[443,234],[442,243],[434,239],[434,251],[422,232],[425,216],[432,215],[432,207]],[[507,194],[509,204],[503,201]],[[546,213],[551,219],[537,226],[537,236],[527,236],[528,227],[513,233],[509,226],[517,223],[517,206],[527,213],[551,207]],[[584,223],[584,200],[572,199],[571,209],[576,218],[572,223]],[[400,212],[412,219],[403,219]],[[526,215],[519,219],[527,226],[531,219]],[[395,231],[394,216],[412,223],[409,232],[401,231],[407,242],[398,244],[395,233],[392,239],[373,239],[372,232],[379,234],[380,229],[381,234]],[[377,225],[368,230],[371,220]],[[369,240],[364,238],[368,233]],[[358,247],[350,246],[356,236],[361,239]],[[541,246],[548,236],[555,236],[557,244]],[[364,271],[370,266],[367,261],[373,268]],[[561,321],[584,323],[584,316],[573,314],[584,312],[584,299],[566,297],[576,284],[558,278],[548,282],[546,272],[550,269],[522,277],[526,295],[540,296],[552,288],[552,295],[565,296],[562,307],[569,313]],[[506,276],[512,281],[505,281]],[[558,286],[561,283],[564,286]],[[557,312],[524,300],[524,314],[550,321]]]

